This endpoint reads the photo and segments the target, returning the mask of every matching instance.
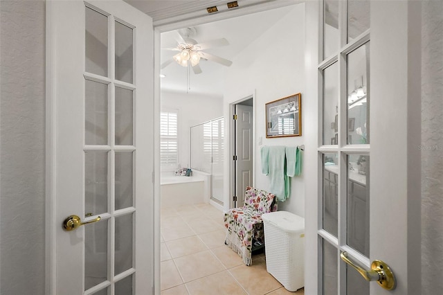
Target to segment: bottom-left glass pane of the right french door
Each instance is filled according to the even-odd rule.
[[[323,240],[323,295],[338,294],[337,256],[336,247]]]

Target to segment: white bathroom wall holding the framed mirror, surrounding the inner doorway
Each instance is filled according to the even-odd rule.
[[[229,104],[247,98],[255,93],[255,184],[256,188],[269,190],[269,179],[261,172],[259,139],[262,145],[302,145],[304,136],[286,138],[266,138],[264,105],[279,98],[302,93],[305,90],[305,4],[298,4],[282,10],[280,21],[271,24],[259,39],[244,49],[233,59],[233,65],[226,70],[224,92],[224,116],[226,126],[226,147],[230,146],[228,123]],[[266,13],[266,12],[260,12]],[[265,18],[265,17],[264,17]],[[302,126],[307,122],[302,115]],[[303,129],[302,129],[303,132]],[[303,134],[303,133],[302,133]],[[226,148],[225,159],[229,159]],[[227,161],[228,162],[228,161]],[[225,165],[225,179],[229,179],[229,163]],[[229,182],[224,191],[229,192]],[[228,195],[225,194],[225,209],[228,208]],[[285,202],[278,203],[279,210],[290,211],[305,216],[304,174],[291,179],[291,195]]]

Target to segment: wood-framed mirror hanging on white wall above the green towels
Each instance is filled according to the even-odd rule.
[[[302,135],[301,102],[297,93],[266,103],[266,138]]]

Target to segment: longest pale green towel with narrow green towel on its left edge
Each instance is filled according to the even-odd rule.
[[[261,151],[262,172],[269,175],[269,192],[282,202],[289,197],[290,193],[289,177],[286,175],[285,147],[262,147]]]

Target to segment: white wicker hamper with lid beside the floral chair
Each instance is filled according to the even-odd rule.
[[[305,218],[277,211],[262,219],[266,270],[294,292],[305,285]]]

